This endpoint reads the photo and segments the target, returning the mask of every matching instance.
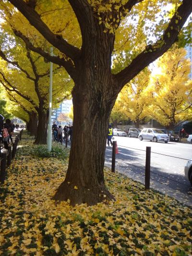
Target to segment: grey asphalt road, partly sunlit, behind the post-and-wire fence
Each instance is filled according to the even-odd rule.
[[[140,141],[138,138],[114,137],[119,150],[119,154],[116,154],[116,171],[144,183],[145,150],[146,146],[151,146],[150,186],[192,206],[192,186],[184,177],[187,159],[192,159],[192,144],[166,144]],[[111,155],[112,147],[107,146],[105,165],[108,167],[111,167]]]

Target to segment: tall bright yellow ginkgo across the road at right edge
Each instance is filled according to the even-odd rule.
[[[157,62],[158,73],[153,76],[154,101],[150,113],[156,121],[173,129],[189,118],[192,109],[191,63],[186,50],[176,48],[166,52]]]

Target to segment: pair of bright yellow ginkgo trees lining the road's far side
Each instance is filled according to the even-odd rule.
[[[142,121],[155,119],[173,129],[178,122],[192,120],[190,67],[185,49],[174,47],[166,52],[157,61],[155,74],[145,68],[124,86],[111,112],[111,121],[117,124],[129,118],[139,128]]]

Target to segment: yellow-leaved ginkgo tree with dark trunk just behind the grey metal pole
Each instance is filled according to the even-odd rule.
[[[1,37],[0,57],[0,82],[10,94],[17,94],[27,101],[32,113],[38,113],[38,126],[36,144],[47,143],[48,128],[48,86],[49,64],[41,55],[27,48],[23,40],[13,36],[8,23],[1,24],[4,35]],[[12,39],[12,45],[7,41]],[[2,51],[2,49],[4,49]],[[53,106],[68,98],[71,94],[72,83],[65,77],[65,71],[61,67],[55,67],[53,71]],[[62,76],[61,76],[62,74]],[[23,101],[24,101],[23,100]],[[26,105],[26,104],[25,104]]]

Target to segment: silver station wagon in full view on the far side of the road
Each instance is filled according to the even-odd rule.
[[[154,129],[154,128],[144,128],[141,133],[139,134],[139,139],[140,140],[150,140],[154,142],[165,142],[168,143],[169,141],[169,136],[168,134],[164,134],[163,131],[160,129]]]

